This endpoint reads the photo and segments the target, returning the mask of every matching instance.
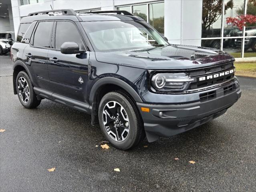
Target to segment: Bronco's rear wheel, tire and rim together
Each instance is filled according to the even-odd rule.
[[[25,108],[36,108],[41,102],[41,100],[37,100],[30,78],[24,71],[19,72],[17,75],[16,91],[20,103]]]

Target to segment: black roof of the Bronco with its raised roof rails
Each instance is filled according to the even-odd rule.
[[[58,12],[58,14],[53,14]],[[20,23],[32,23],[39,20],[72,20],[73,22],[81,21],[118,21],[118,20],[141,20],[127,11],[97,11],[88,13],[76,13],[73,9],[68,10],[48,10],[34,12],[22,18]]]

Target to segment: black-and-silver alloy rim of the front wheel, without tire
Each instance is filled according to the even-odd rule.
[[[115,141],[124,141],[129,134],[129,118],[121,104],[108,102],[103,108],[103,124],[107,134]]]

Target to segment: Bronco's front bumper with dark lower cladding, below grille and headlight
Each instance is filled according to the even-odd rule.
[[[226,87],[232,87],[232,89],[227,92]],[[224,114],[241,96],[239,84],[235,83],[219,87],[214,90],[214,93],[207,99],[185,104],[137,102],[148,141],[153,142],[159,136],[173,136],[209,122]],[[141,107],[149,108],[149,112],[142,112]]]

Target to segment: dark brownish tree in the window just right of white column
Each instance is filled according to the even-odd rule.
[[[233,0],[225,4],[225,12],[233,8]],[[222,0],[203,0],[202,31],[210,30],[210,26],[222,15]]]

